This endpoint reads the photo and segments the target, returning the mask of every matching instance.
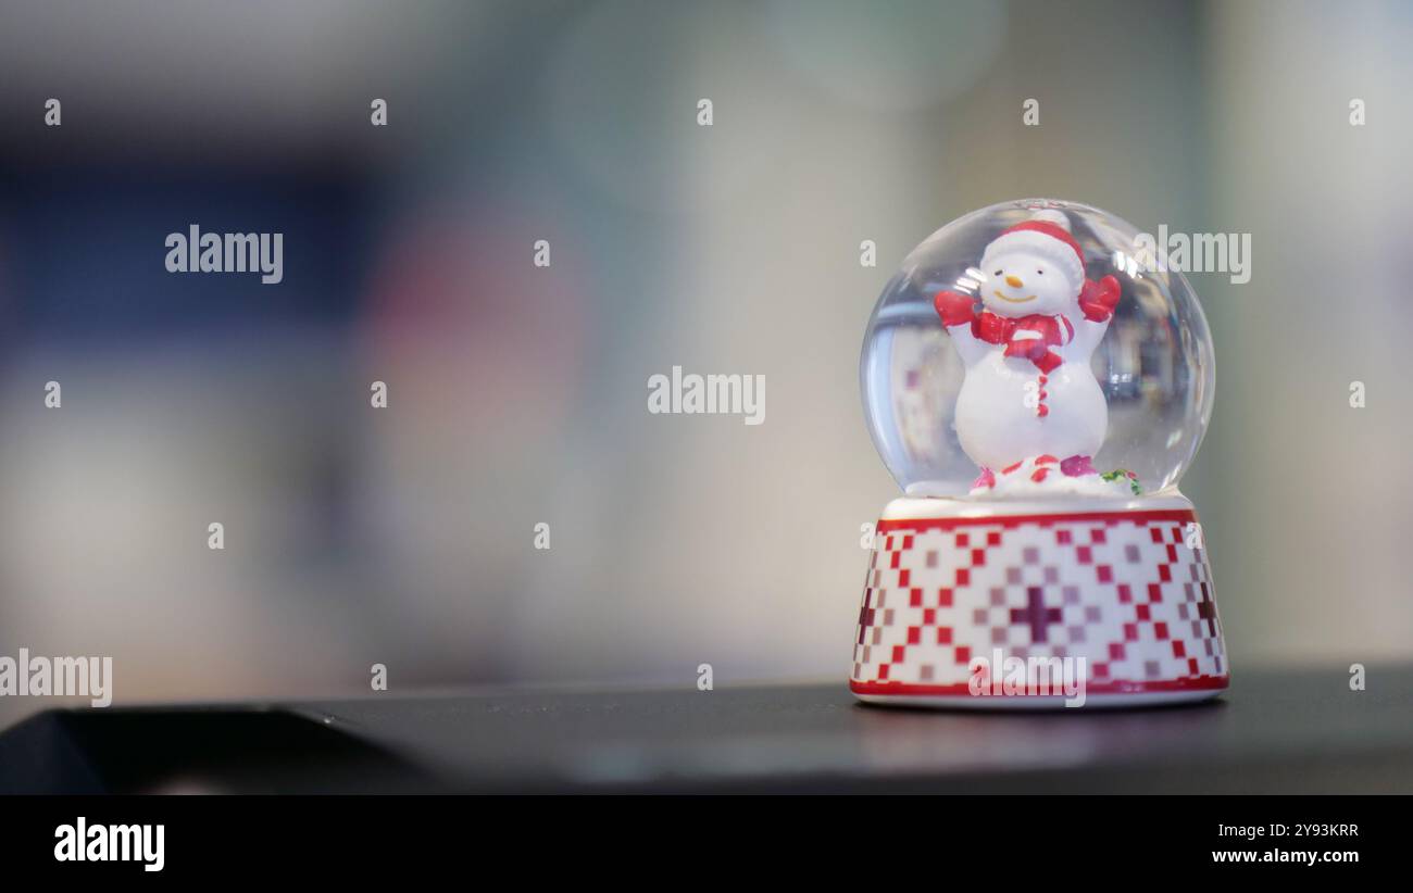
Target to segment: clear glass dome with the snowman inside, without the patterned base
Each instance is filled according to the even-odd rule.
[[[1161,246],[1053,199],[983,208],[917,246],[873,308],[859,372],[904,493],[976,499],[1171,493],[1215,382],[1202,308]],[[988,482],[1017,468],[1037,483]]]

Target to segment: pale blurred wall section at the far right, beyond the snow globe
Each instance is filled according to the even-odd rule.
[[[1229,486],[1201,509],[1236,670],[1413,653],[1410,35],[1400,3],[1210,7],[1208,219],[1253,239],[1252,281],[1204,291]]]

